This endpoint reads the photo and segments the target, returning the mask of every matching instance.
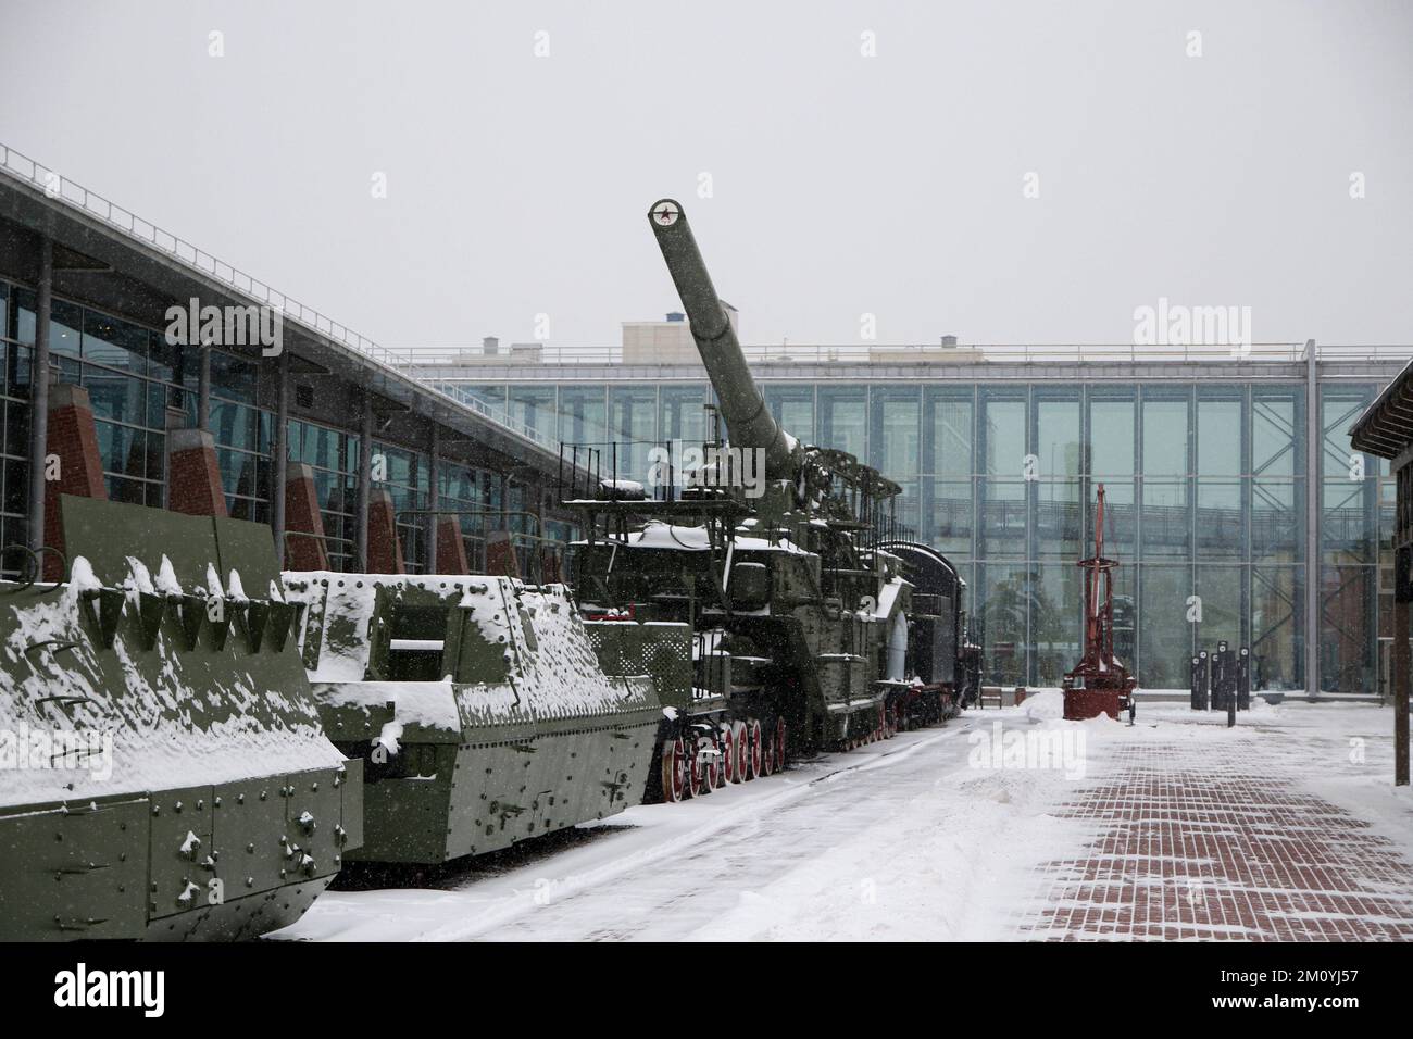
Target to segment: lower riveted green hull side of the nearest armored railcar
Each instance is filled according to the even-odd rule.
[[[235,941],[285,927],[359,840],[360,773],[355,761],[82,806],[6,807],[0,941]],[[325,826],[305,833],[307,811]],[[195,859],[179,852],[187,834],[201,838]],[[206,850],[216,852],[212,865],[201,861]],[[305,854],[312,868],[297,861]]]

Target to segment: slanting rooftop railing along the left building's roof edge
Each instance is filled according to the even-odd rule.
[[[307,307],[298,300],[273,288],[252,274],[246,274],[233,264],[198,249],[191,242],[187,242],[168,230],[162,230],[157,225],[137,216],[130,209],[116,205],[97,192],[89,191],[82,184],[71,181],[61,172],[34,161],[24,153],[16,151],[3,143],[0,143],[0,171],[17,181],[31,184],[42,191],[47,198],[64,202],[72,209],[78,209],[93,219],[99,219],[134,242],[151,246],[167,256],[171,256],[191,270],[229,286],[254,303],[271,307],[280,312],[280,318],[283,321],[295,321],[326,339],[336,341],[367,358],[373,363],[380,365],[393,375],[401,376],[403,379],[417,379],[415,373],[410,370],[415,366],[414,351],[390,349],[374,342],[373,339],[369,339],[366,335],[355,332],[348,325],[325,317],[312,307]],[[552,441],[541,431],[513,418],[504,409],[493,407],[483,400],[447,393],[445,390],[427,386],[425,383],[422,383],[422,387],[427,392],[438,393],[439,396],[455,401],[468,411],[475,411],[487,421],[502,425],[534,444],[538,444],[550,451],[558,450],[558,441]]]

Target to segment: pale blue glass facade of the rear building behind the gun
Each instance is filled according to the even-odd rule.
[[[1255,687],[1304,690],[1314,638],[1321,690],[1375,691],[1393,496],[1388,464],[1352,452],[1347,431],[1386,379],[1321,372],[1311,400],[1303,362],[1283,366],[1286,377],[1212,369],[1174,363],[1152,379],[1080,382],[1077,369],[1056,366],[1005,380],[940,379],[926,366],[887,379],[851,366],[804,380],[781,365],[759,379],[790,433],[901,483],[899,519],[968,581],[988,681],[1056,686],[1078,659],[1075,563],[1088,554],[1102,483],[1106,553],[1121,561],[1119,652],[1140,686],[1186,688],[1191,654],[1225,639],[1251,646]],[[704,377],[569,365],[534,380],[487,375],[438,385],[561,441],[617,441],[629,478],[646,475],[649,445],[699,441],[711,401]]]

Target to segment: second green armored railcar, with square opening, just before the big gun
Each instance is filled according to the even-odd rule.
[[[353,858],[479,855],[642,799],[667,683],[561,585],[287,573],[284,589],[325,732],[365,763]],[[685,625],[647,639],[690,652]]]

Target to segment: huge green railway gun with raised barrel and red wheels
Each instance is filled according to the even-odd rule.
[[[649,222],[715,390],[718,435],[685,472],[661,450],[646,483],[605,479],[602,445],[567,444],[574,476],[561,496],[584,516],[572,557],[581,606],[619,621],[596,632],[601,653],[636,652],[653,625],[691,630],[687,680],[663,688],[660,775],[647,792],[678,800],[955,711],[950,684],[917,669],[926,656],[941,670],[945,653],[918,650],[942,646],[955,614],[918,609],[889,550],[914,544],[896,523],[901,488],[780,427],[681,206],[661,199]],[[763,479],[746,481],[753,472]],[[677,666],[658,649],[650,671]]]

